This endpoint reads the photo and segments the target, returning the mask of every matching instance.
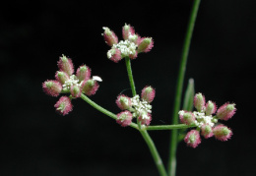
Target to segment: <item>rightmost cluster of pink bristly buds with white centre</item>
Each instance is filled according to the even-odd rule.
[[[205,139],[213,136],[223,142],[230,139],[232,131],[218,121],[226,121],[234,115],[236,111],[234,103],[226,102],[217,110],[215,102],[209,100],[206,103],[205,96],[197,93],[194,97],[194,107],[197,111],[180,110],[178,113],[182,123],[197,126],[197,129],[188,132],[184,139],[189,147],[197,147],[201,143],[200,131]]]

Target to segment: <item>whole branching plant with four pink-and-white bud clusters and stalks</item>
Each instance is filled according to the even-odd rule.
[[[226,102],[218,108],[216,102],[212,100],[206,102],[205,96],[201,92],[189,94],[196,110],[179,110],[176,116],[179,117],[180,124],[151,126],[152,118],[154,118],[152,117],[151,102],[155,98],[156,89],[152,86],[146,86],[140,94],[137,94],[132,76],[131,61],[137,59],[140,53],[151,51],[154,47],[153,38],[141,37],[133,27],[126,24],[122,28],[122,40],[118,39],[114,31],[106,27],[103,28],[102,35],[106,44],[110,46],[106,57],[115,63],[125,60],[133,96],[129,97],[125,94],[117,96],[115,103],[121,110],[117,114],[102,108],[88,97],[96,93],[99,88],[98,82],[102,81],[100,77],[92,77],[92,70],[87,65],[80,66],[75,72],[71,58],[62,55],[57,64],[58,71],[55,73],[55,80],[47,80],[42,84],[43,90],[48,95],[66,94],[62,95],[54,105],[58,113],[67,115],[73,109],[72,101],[76,98],[83,98],[97,110],[115,119],[122,127],[130,126],[140,131],[150,148],[160,175],[167,175],[167,172],[147,131],[195,128],[188,132],[183,131],[186,133],[183,140],[188,147],[197,147],[201,143],[200,136],[205,139],[215,137],[219,141],[230,139],[232,131],[220,122],[226,121],[234,115],[235,104]],[[170,175],[173,173],[169,172]]]

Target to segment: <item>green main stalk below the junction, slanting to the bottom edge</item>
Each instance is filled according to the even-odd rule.
[[[155,161],[155,164],[158,167],[160,176],[167,176],[167,172],[166,172],[164,165],[162,164],[162,161],[160,159],[160,154],[159,154],[154,142],[152,141],[150,135],[148,134],[148,132],[146,130],[140,130],[140,132],[141,132],[146,144],[150,148],[150,151],[151,151],[151,154]]]

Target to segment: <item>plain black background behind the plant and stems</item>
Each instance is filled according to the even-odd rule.
[[[103,82],[92,96],[118,113],[116,96],[129,88],[126,68],[106,58],[101,36],[109,27],[121,38],[125,23],[155,46],[132,61],[137,91],[157,90],[152,125],[171,123],[178,65],[192,1],[8,1],[0,7],[0,175],[158,175],[148,147],[132,128],[121,128],[81,99],[67,116],[55,113],[58,100],[41,84],[54,79],[61,54],[75,67],[87,64]],[[206,99],[235,102],[224,122],[228,142],[180,143],[177,175],[255,175],[256,2],[202,1],[188,57],[184,86],[195,80]],[[124,93],[131,95],[130,90]],[[150,132],[165,163],[169,131]]]

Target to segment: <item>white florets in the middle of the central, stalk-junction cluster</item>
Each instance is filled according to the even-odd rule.
[[[141,116],[142,119],[150,119],[148,113],[152,113],[152,105],[145,100],[140,100],[140,96],[137,94],[131,98],[132,106],[134,107],[133,117]]]

